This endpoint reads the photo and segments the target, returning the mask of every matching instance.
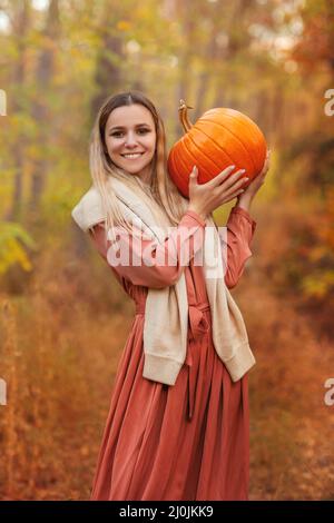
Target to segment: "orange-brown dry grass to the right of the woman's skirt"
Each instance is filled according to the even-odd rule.
[[[252,500],[334,499],[334,406],[324,403],[324,383],[334,376],[331,334],[313,319],[313,307],[307,312],[299,296],[276,288],[266,270],[285,263],[297,213],[277,206],[265,220],[259,213],[266,225],[237,287],[257,358],[249,375]],[[333,315],[330,307],[326,314]]]

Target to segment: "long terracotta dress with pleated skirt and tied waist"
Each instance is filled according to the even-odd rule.
[[[184,215],[180,225],[205,230],[204,220],[193,211]],[[256,223],[246,210],[234,207],[226,226],[225,282],[232,288],[252,256]],[[107,259],[104,234],[102,224],[91,229],[92,240]],[[163,248],[168,249],[168,240],[165,244]],[[233,383],[214,348],[203,267],[193,262],[183,267],[189,304],[188,345],[174,386],[143,377],[143,333],[148,287],[170,285],[180,268],[110,265],[135,300],[136,316],[118,363],[91,500],[248,497],[247,374]]]

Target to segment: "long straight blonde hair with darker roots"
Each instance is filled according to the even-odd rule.
[[[156,129],[156,150],[153,159],[153,171],[150,177],[150,187],[147,190],[139,176],[130,176],[126,170],[116,166],[108,155],[105,129],[110,112],[117,107],[131,106],[140,103],[146,107],[154,119]],[[129,233],[134,233],[130,225],[125,220],[119,200],[108,184],[109,177],[121,180],[129,188],[140,194],[141,199],[149,206],[150,210],[159,224],[161,213],[164,218],[171,226],[177,226],[187,210],[188,200],[178,191],[177,187],[169,177],[167,168],[166,135],[164,122],[154,106],[140,91],[120,92],[110,96],[100,107],[90,138],[89,145],[89,166],[92,182],[101,196],[101,201],[106,215],[105,230],[106,237],[108,230],[111,233],[115,226],[124,227]]]

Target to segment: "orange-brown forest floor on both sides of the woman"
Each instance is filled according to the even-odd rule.
[[[254,241],[233,289],[257,361],[249,373],[249,499],[333,500],[334,406],[324,401],[333,346],[298,296],[273,286],[266,257],[276,248],[282,264],[281,243],[271,246],[262,227]],[[53,275],[53,264],[52,255],[43,260],[29,297],[0,296],[0,377],[8,382],[8,404],[0,406],[2,500],[89,499],[132,323],[132,304],[111,274],[106,286],[102,263],[92,275],[85,265]],[[94,295],[91,277],[99,280]]]

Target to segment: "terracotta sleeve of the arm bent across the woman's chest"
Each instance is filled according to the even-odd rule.
[[[111,265],[118,278],[134,285],[164,288],[174,285],[196,253],[202,249],[206,221],[193,211],[184,214],[178,227],[164,243],[135,238],[118,227],[117,241],[111,245],[105,239],[104,224],[95,225],[89,234],[99,253]]]

